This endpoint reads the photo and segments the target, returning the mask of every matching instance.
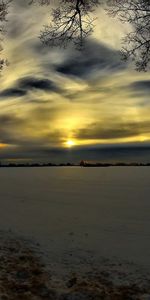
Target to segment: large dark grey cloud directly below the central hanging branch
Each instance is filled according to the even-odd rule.
[[[72,54],[60,65],[56,71],[68,76],[88,78],[94,72],[114,72],[125,68],[119,51],[108,48],[106,45],[89,41],[82,51]]]

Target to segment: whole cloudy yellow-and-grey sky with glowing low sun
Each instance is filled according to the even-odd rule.
[[[150,161],[150,73],[120,59],[131,27],[95,11],[82,51],[41,44],[51,7],[14,0],[0,75],[0,160]]]

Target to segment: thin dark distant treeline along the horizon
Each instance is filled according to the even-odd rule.
[[[61,163],[61,164],[54,164],[54,163],[0,163],[0,168],[33,168],[33,167],[147,167],[150,166],[150,163],[138,163],[138,162],[116,162],[116,163],[103,163],[103,162],[88,162],[81,160],[78,164],[73,163]]]

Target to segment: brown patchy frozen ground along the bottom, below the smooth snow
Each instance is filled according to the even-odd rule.
[[[150,274],[127,262],[90,260],[60,274],[33,241],[0,232],[1,300],[149,300]],[[63,260],[63,258],[62,258]]]

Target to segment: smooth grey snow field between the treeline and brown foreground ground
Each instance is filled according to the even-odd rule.
[[[150,270],[149,181],[149,167],[1,168],[0,229],[38,242],[55,270],[107,259]]]

